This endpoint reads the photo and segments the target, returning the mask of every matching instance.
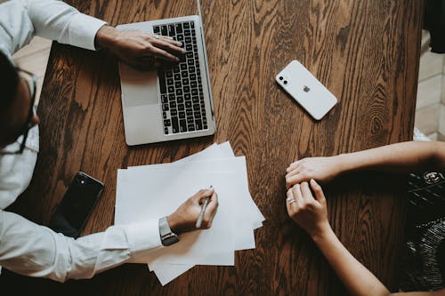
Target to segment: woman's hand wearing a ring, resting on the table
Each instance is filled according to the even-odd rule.
[[[295,184],[287,190],[287,214],[312,238],[323,236],[330,229],[326,198],[320,185],[315,180]]]

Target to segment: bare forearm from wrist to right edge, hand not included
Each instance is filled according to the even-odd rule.
[[[417,172],[445,169],[445,143],[402,142],[338,156],[343,172]]]

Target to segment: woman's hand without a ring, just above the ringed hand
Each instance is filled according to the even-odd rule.
[[[286,188],[311,179],[321,182],[332,180],[343,171],[342,167],[340,156],[300,159],[286,169]]]

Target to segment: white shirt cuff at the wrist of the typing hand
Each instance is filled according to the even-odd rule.
[[[108,23],[83,13],[77,13],[71,20],[71,24],[73,24],[72,26],[76,25],[75,28],[69,30],[70,44],[95,51],[94,40],[97,31]]]

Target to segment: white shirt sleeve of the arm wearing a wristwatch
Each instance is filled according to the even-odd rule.
[[[161,245],[158,220],[111,226],[74,239],[0,210],[0,265],[25,276],[59,282],[90,278],[119,264],[142,260]]]

